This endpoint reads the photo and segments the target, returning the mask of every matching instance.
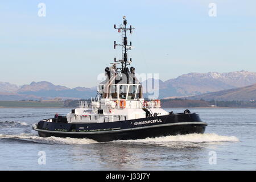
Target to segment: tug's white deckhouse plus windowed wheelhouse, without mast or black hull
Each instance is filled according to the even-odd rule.
[[[140,84],[113,84],[115,92],[109,98],[98,97],[90,104],[80,101],[80,107],[67,114],[69,123],[101,123],[130,119],[146,118],[147,109],[151,116],[167,115],[167,111],[160,108],[160,100],[144,101],[139,98]],[[104,85],[98,85],[98,93],[104,95]]]

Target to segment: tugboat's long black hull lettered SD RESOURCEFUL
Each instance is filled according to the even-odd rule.
[[[140,122],[141,125],[138,125]],[[135,125],[135,123],[137,124]],[[48,128],[46,128],[47,124]],[[56,131],[60,126],[61,128],[66,128],[66,130],[69,126],[69,131]],[[85,126],[86,128],[91,128],[91,130],[77,130]],[[197,114],[170,114],[109,123],[71,124],[40,121],[35,130],[38,131],[40,137],[89,138],[98,142],[108,142],[112,140],[165,137],[168,135],[201,134],[204,133],[205,126],[207,126],[207,123],[202,122]],[[104,127],[104,129],[101,129],[101,127]]]

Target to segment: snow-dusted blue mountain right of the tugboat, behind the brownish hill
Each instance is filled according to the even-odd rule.
[[[162,86],[159,84],[159,87],[161,97],[171,97],[193,96],[224,89],[238,88],[255,83],[256,73],[254,72],[209,72],[181,75],[177,78],[164,81]]]

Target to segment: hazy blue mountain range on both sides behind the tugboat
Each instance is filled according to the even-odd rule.
[[[159,81],[159,98],[197,96],[201,94],[205,94],[205,97],[200,98],[207,98],[206,96],[209,96],[211,92],[255,84],[256,73],[248,71],[188,73],[167,81],[154,81]],[[47,81],[33,81],[31,84],[21,86],[10,84],[9,82],[0,82],[0,100],[49,100],[55,97],[60,97],[64,100],[81,99],[94,97],[96,93],[96,87],[76,87],[71,89],[66,86],[54,85]]]

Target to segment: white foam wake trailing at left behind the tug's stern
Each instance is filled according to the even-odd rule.
[[[3,135],[0,134],[0,138],[9,138],[9,139],[18,139],[18,140],[27,140],[36,143],[46,143],[46,144],[90,144],[90,143],[98,143],[95,140],[87,139],[87,138],[59,138],[59,137],[38,137],[31,136],[26,134],[20,135]]]

